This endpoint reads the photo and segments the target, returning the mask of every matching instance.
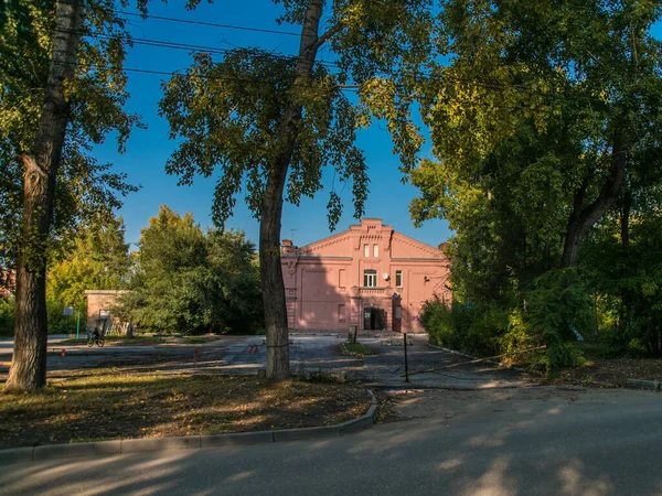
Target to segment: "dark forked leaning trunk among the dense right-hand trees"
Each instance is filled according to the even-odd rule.
[[[588,187],[588,181],[575,193],[573,214],[566,228],[565,242],[560,267],[574,267],[579,259],[579,245],[586,238],[592,226],[613,205],[626,174],[628,151],[619,132],[611,147],[611,171],[609,177],[602,185],[600,194],[588,206],[584,206],[584,197]]]

